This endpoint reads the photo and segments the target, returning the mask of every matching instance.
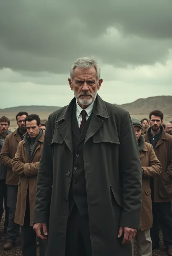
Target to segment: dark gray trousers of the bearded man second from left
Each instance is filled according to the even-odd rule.
[[[20,235],[20,225],[14,222],[18,186],[8,185],[7,206],[9,207],[9,222],[7,228],[7,241],[15,242]]]

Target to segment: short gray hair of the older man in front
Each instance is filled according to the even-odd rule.
[[[94,58],[87,58],[87,57],[83,57],[83,58],[78,58],[77,60],[75,60],[70,67],[70,79],[71,81],[73,80],[73,74],[74,74],[74,70],[75,68],[82,68],[82,69],[87,69],[87,68],[95,68],[96,70],[96,74],[97,74],[97,80],[99,81],[100,76],[101,76],[101,69],[100,66],[98,64],[98,62],[94,59]]]

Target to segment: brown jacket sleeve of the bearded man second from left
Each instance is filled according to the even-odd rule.
[[[5,138],[4,145],[1,149],[1,154],[0,154],[0,160],[1,164],[10,168],[12,171],[12,158],[10,157],[10,151],[9,151],[9,136]]]

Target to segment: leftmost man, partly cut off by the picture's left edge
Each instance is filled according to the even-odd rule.
[[[0,118],[0,152],[4,145],[5,138],[11,131],[8,131],[10,121],[7,117],[3,116]],[[7,170],[0,161],[0,222],[5,209],[5,222],[4,222],[4,234],[7,232],[8,227],[8,215],[9,207],[7,206],[7,184],[5,184],[7,176]],[[4,207],[3,207],[4,202]]]

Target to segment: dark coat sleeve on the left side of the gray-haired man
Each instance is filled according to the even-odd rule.
[[[36,202],[34,210],[33,223],[48,223],[50,190],[53,182],[53,156],[52,148],[49,146],[52,142],[52,123],[50,116],[47,121],[40,167],[37,177]]]

